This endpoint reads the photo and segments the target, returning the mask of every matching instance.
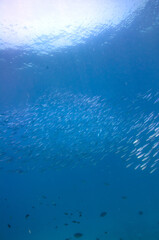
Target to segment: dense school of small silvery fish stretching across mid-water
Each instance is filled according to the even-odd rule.
[[[0,167],[23,173],[106,161],[153,173],[159,162],[159,93],[119,103],[72,93],[44,95],[0,114]],[[149,111],[151,109],[151,111]]]

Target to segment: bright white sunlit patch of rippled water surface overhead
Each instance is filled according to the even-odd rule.
[[[128,24],[148,0],[1,0],[0,48],[56,50]]]

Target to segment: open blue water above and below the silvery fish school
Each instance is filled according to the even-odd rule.
[[[117,102],[123,96],[134,99],[150,89],[157,92],[159,28],[153,7],[149,4],[108,44],[104,44],[108,34],[103,32],[86,44],[53,56],[1,51],[1,112],[19,104],[25,106],[26,102],[33,104],[48,89],[106,96]],[[31,68],[19,69],[30,62]],[[147,111],[146,106],[143,111]],[[74,233],[81,232],[82,239],[91,240],[157,240],[158,190],[158,173],[127,169],[113,153],[96,166],[25,174],[0,171],[0,239],[64,240],[74,239]],[[107,215],[101,218],[104,211]],[[30,215],[28,219],[26,214]]]

